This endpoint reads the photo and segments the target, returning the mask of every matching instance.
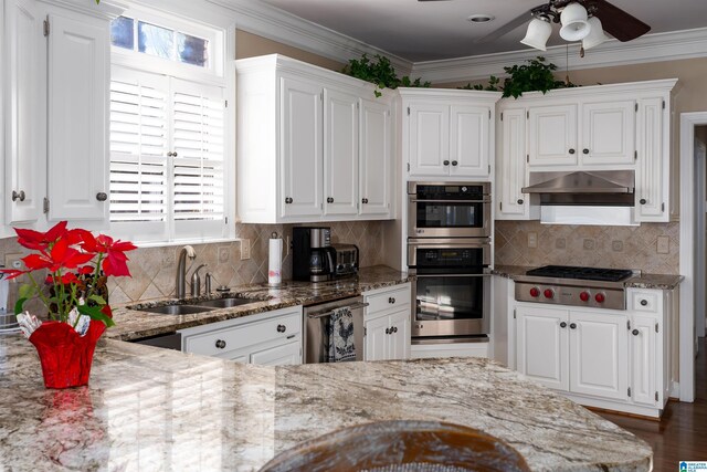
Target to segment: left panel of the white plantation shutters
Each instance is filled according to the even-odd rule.
[[[112,71],[110,221],[152,223],[148,233],[168,224],[168,86],[165,76]]]

